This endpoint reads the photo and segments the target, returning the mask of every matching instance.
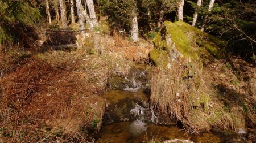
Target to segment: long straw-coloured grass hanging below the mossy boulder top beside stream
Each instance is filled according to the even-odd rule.
[[[185,128],[196,133],[209,131],[212,127],[245,130],[243,109],[225,107],[210,80],[196,63],[187,59],[172,62],[168,70],[152,76],[151,106],[180,120]]]

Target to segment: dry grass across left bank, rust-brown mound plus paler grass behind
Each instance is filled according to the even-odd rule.
[[[122,54],[84,53],[12,53],[1,60],[1,141],[85,142],[100,128],[105,99],[95,94],[132,64]]]

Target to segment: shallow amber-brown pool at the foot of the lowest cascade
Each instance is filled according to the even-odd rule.
[[[136,121],[135,121],[136,122]],[[141,129],[142,128],[142,129]],[[134,122],[119,122],[106,125],[100,132],[96,142],[147,142],[148,140],[192,140],[194,142],[222,142],[222,139],[212,133],[201,135],[187,134],[177,126],[164,127],[155,124],[134,125]]]

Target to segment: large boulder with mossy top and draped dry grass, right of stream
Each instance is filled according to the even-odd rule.
[[[159,71],[152,76],[150,102],[156,111],[193,132],[254,127],[255,81],[243,81],[241,70],[229,68],[225,42],[181,21],[164,22],[153,42],[150,58]]]

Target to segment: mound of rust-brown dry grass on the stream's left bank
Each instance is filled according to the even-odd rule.
[[[5,73],[0,79],[1,141],[85,141],[80,128],[100,128],[105,99],[86,92],[92,85],[84,78],[34,57]],[[73,120],[64,122],[68,119]]]

